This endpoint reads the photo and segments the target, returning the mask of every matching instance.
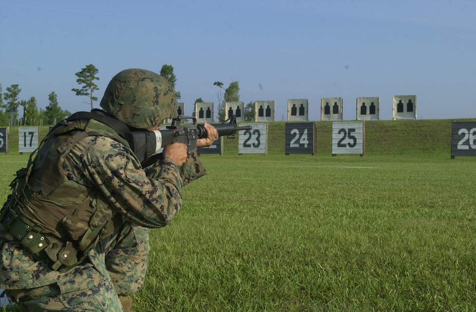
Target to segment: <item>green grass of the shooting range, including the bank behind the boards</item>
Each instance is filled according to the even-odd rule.
[[[450,158],[451,120],[367,122],[365,157],[316,124],[316,156],[284,154],[284,122],[267,155],[201,156],[134,311],[476,311],[476,158]],[[0,155],[2,201],[27,158]]]

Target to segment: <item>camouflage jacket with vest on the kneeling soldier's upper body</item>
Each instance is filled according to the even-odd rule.
[[[95,120],[78,123],[72,131],[42,143],[29,170],[19,171],[17,189],[9,198],[15,203],[10,210],[38,226],[47,238],[49,245],[42,250],[67,266],[75,265],[80,253],[111,234],[123,219],[148,228],[167,225],[182,205],[184,184],[206,174],[195,153],[179,168],[165,158],[143,169],[114,129]],[[81,138],[70,144],[80,133]],[[14,269],[14,258],[30,259],[26,249],[4,244],[0,287],[17,285],[18,276],[8,271]],[[67,254],[72,256],[58,256]],[[30,282],[34,281],[26,283]]]

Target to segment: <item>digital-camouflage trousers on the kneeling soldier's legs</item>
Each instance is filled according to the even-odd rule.
[[[127,301],[142,286],[148,255],[149,230],[126,223],[88,252],[92,265],[58,274],[56,283],[7,294],[26,311],[122,312],[119,296]]]

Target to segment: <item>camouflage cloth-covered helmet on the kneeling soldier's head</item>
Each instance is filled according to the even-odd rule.
[[[148,129],[177,116],[171,84],[157,73],[126,69],[109,82],[101,107],[128,126]]]

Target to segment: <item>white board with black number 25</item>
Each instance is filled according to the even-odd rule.
[[[333,122],[332,155],[365,154],[365,123]]]

